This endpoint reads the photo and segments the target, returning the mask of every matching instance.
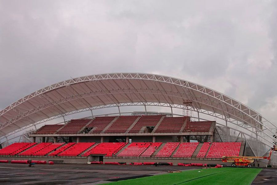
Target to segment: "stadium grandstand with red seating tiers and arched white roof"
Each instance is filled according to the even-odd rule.
[[[231,97],[146,73],[71,78],[0,111],[0,159],[8,162],[275,167],[276,135],[276,123]]]

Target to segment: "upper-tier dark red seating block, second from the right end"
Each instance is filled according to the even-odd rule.
[[[181,132],[188,117],[165,117],[155,132]]]

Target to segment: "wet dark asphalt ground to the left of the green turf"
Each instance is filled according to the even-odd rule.
[[[1,185],[80,185],[97,184],[107,180],[156,175],[167,171],[189,170],[202,167],[182,166],[131,166],[98,164],[27,164],[0,163]]]

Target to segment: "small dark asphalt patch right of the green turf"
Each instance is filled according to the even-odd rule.
[[[276,185],[277,184],[277,168],[263,168],[257,175],[252,185]]]

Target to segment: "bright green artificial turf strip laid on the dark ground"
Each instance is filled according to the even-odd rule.
[[[250,184],[259,174],[260,168],[211,168],[183,171],[182,173],[168,173],[163,175],[154,175],[137,179],[121,180],[110,185],[233,185]],[[199,172],[200,171],[200,172]],[[197,179],[198,178],[198,179]]]

